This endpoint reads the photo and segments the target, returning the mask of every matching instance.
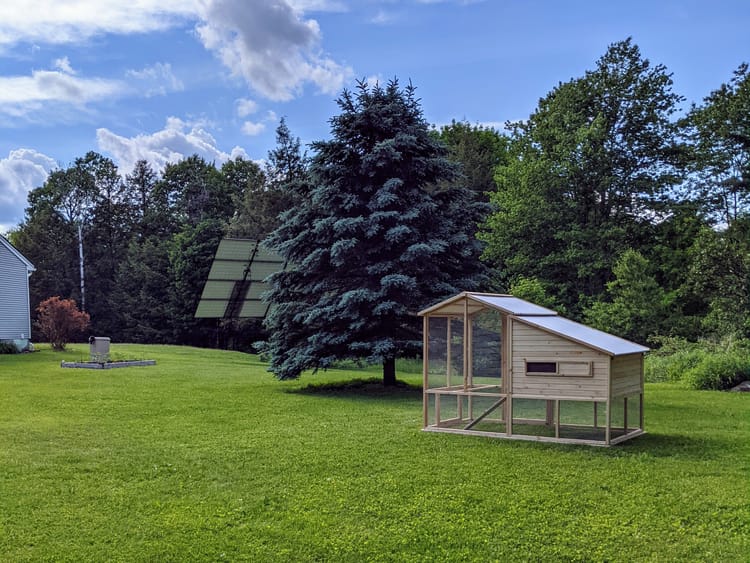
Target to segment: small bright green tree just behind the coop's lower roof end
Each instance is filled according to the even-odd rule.
[[[651,266],[639,252],[628,249],[614,268],[615,279],[607,283],[609,301],[597,301],[584,311],[592,326],[634,340],[648,337],[669,326],[672,296],[666,294],[651,274]]]

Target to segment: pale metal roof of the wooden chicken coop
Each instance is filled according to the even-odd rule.
[[[464,312],[473,315],[483,309],[492,308],[511,315],[528,325],[556,334],[567,340],[578,342],[589,348],[611,356],[638,354],[648,348],[619,336],[602,332],[558,315],[552,309],[540,307],[512,295],[494,293],[463,292],[446,299],[419,314],[422,316],[461,316]]]

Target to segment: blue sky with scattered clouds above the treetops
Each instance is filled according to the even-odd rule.
[[[281,116],[327,138],[356,79],[411,80],[430,123],[500,128],[632,36],[687,108],[750,62],[748,29],[746,0],[5,0],[0,232],[89,150],[125,174],[263,159]]]

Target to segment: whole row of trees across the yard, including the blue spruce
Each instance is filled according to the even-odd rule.
[[[119,341],[248,346],[194,319],[218,241],[266,239],[277,375],[418,351],[419,308],[510,292],[642,343],[750,331],[750,78],[680,112],[630,39],[506,132],[424,120],[411,85],[360,84],[305,153],[282,120],[264,167],[191,156],[121,176],[96,153],[32,190],[12,242],[32,305],[72,297]],[[82,252],[81,252],[82,250]]]

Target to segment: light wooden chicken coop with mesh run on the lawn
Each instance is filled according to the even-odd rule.
[[[645,346],[511,295],[419,315],[424,430],[597,446],[644,433]]]

